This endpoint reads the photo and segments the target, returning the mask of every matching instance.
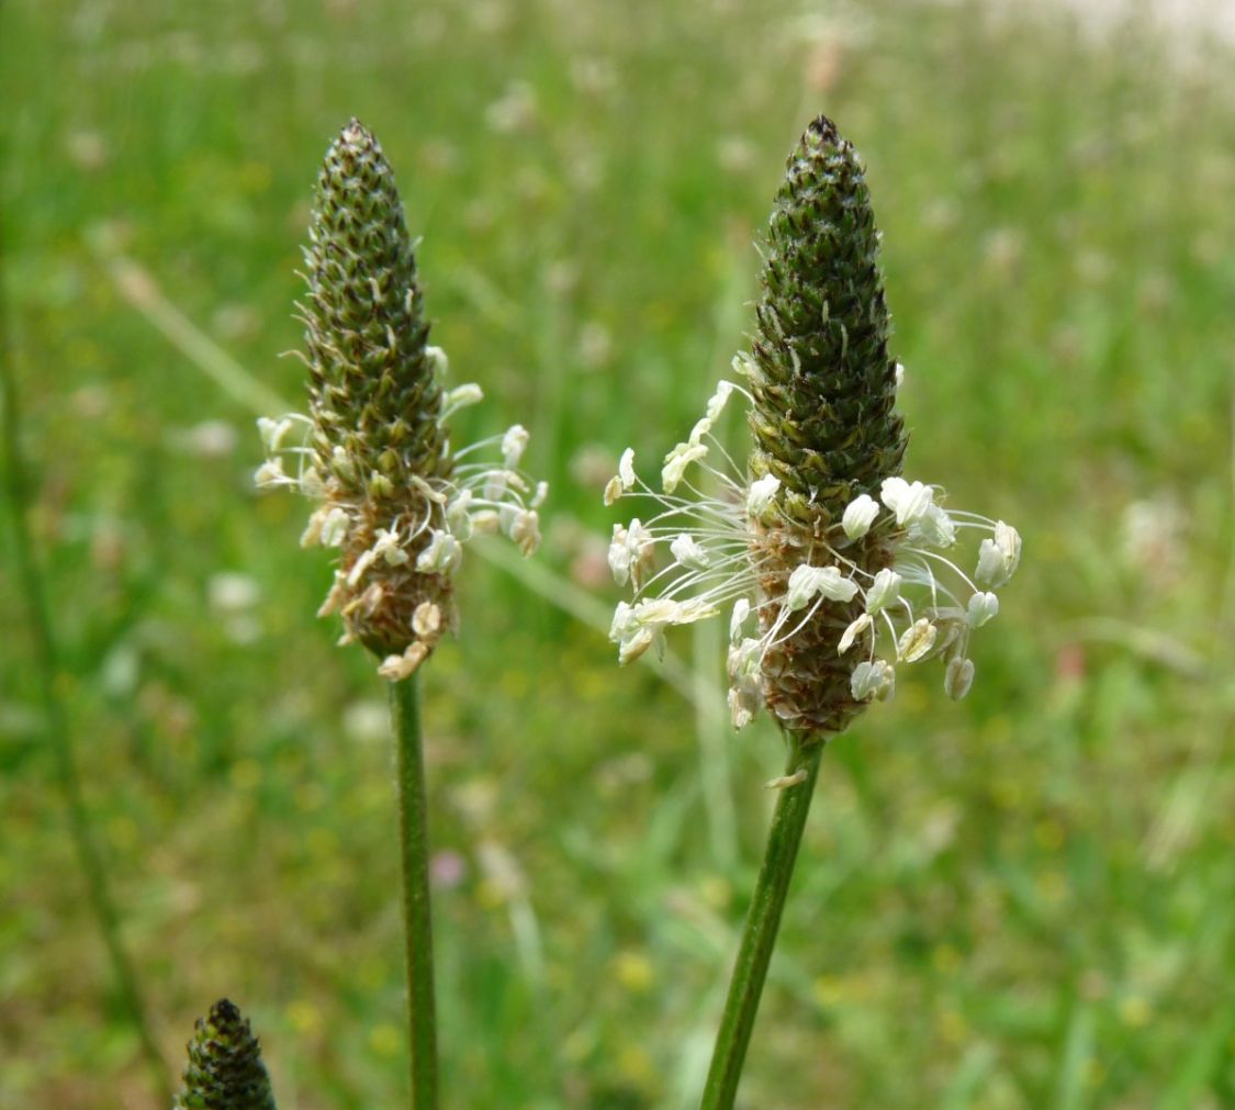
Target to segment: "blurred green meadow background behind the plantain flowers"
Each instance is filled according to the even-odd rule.
[[[782,743],[721,720],[719,627],[680,630],[672,682],[616,668],[599,490],[743,344],[752,244],[826,111],[885,236],[909,474],[1025,559],[966,701],[910,670],[829,751],[742,1105],[1235,1106],[1233,52],[1007,7],[0,7],[57,688],[172,1068],[227,995],[285,1110],[405,1099],[383,684],[314,617],[327,559],[303,504],[253,493],[266,410],[226,363],[299,407],[277,353],[357,115],[435,341],[488,395],[459,438],[521,421],[552,483],[540,556],[469,554],[424,673],[447,1105],[692,1105]],[[169,340],[177,314],[217,349]],[[0,1105],[147,1110],[14,542]]]

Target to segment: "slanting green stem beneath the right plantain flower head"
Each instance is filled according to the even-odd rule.
[[[742,930],[742,943],[729,983],[729,996],[716,1033],[716,1047],[708,1069],[700,1110],[731,1110],[737,1096],[737,1084],[742,1078],[742,1063],[751,1042],[755,1015],[763,993],[776,935],[781,926],[781,911],[793,877],[793,863],[802,843],[802,831],[806,827],[810,799],[819,777],[819,761],[824,745],[806,737],[790,737],[789,763],[785,774],[802,780],[781,789],[772,828],[763,853],[763,864],[755,883],[755,898]]]

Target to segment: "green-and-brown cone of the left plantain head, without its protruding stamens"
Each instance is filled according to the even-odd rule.
[[[303,305],[316,458],[324,507],[346,512],[335,586],[322,607],[378,656],[414,641],[421,658],[454,625],[448,574],[419,573],[416,558],[442,526],[427,495],[451,477],[442,421],[445,356],[426,346],[416,258],[394,173],[378,141],[352,120],[326,152],[305,249]],[[301,475],[301,488],[305,480]],[[403,559],[373,558],[382,530],[411,536]],[[435,630],[412,619],[435,606]]]

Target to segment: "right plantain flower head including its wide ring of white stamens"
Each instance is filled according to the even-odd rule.
[[[824,116],[789,157],[763,257],[740,380],[719,384],[668,453],[659,491],[629,449],[605,489],[606,504],[652,505],[614,527],[609,562],[635,598],[610,638],[626,663],[666,626],[727,607],[734,725],[766,706],[823,742],[890,698],[900,666],[941,659],[945,690],[965,696],[969,633],[998,612],[1020,536],[902,477],[904,370],[888,353],[879,232],[857,152]],[[753,440],[745,472],[713,432],[735,394]],[[969,537],[976,551],[958,553]]]

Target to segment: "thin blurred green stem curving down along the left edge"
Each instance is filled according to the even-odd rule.
[[[33,500],[27,477],[26,461],[21,453],[21,414],[19,411],[17,383],[9,364],[9,348],[5,332],[4,282],[0,274],[0,406],[2,406],[2,431],[5,463],[5,503],[12,525],[14,557],[17,564],[17,580],[26,601],[26,614],[33,640],[35,663],[38,670],[38,693],[43,703],[43,717],[47,722],[48,747],[56,762],[56,777],[69,816],[69,835],[77,854],[78,867],[85,879],[86,901],[94,916],[95,926],[103,937],[104,947],[111,961],[112,974],[120,989],[120,998],[128,1020],[137,1033],[142,1056],[149,1069],[151,1083],[159,1100],[168,1105],[172,1101],[172,1088],[168,1085],[168,1067],[163,1059],[154,1036],[151,1032],[146,1014],[146,1004],[137,985],[137,974],[120,937],[120,915],[112,900],[107,883],[107,870],[103,851],[95,840],[90,816],[86,811],[85,796],[82,791],[82,774],[77,763],[73,737],[69,733],[68,714],[59,698],[57,677],[61,673],[56,637],[52,632],[51,610],[47,605],[47,591],[43,588],[43,575],[35,556],[33,537],[30,531],[27,514]]]

